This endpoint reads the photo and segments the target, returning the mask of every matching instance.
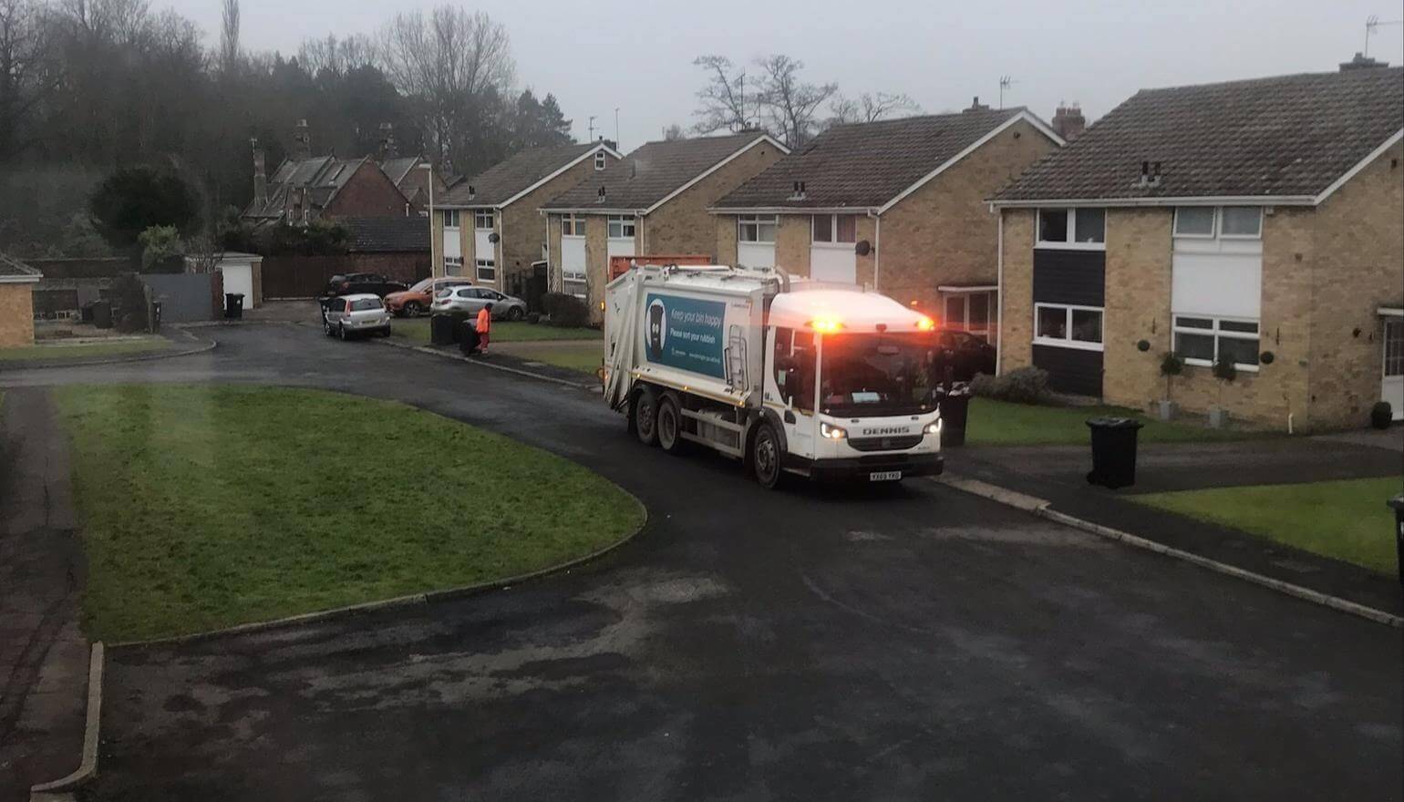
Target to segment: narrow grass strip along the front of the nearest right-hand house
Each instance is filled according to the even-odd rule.
[[[1088,442],[1087,420],[1092,417],[1133,417],[1144,424],[1140,442],[1206,442],[1264,437],[1262,433],[1220,430],[1188,423],[1164,423],[1136,410],[1115,406],[1056,407],[1000,402],[984,397],[970,400],[966,442],[970,445],[1073,445]]]

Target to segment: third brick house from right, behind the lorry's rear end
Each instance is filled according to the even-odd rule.
[[[709,254],[708,208],[789,150],[760,131],[646,142],[619,163],[542,205],[550,287],[598,312],[609,257]]]

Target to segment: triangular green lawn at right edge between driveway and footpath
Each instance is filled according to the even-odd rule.
[[[1382,573],[1396,570],[1400,478],[1257,485],[1127,496],[1129,500],[1251,532]]]

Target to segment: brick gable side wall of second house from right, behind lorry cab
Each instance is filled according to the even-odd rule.
[[[998,218],[986,198],[1054,147],[1018,121],[883,213],[878,288],[903,303],[935,308],[938,285],[993,285]]]

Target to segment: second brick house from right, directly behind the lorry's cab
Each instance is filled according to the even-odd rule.
[[[1059,147],[1022,108],[835,125],[712,206],[723,264],[862,284],[984,337],[997,285],[986,199]]]

